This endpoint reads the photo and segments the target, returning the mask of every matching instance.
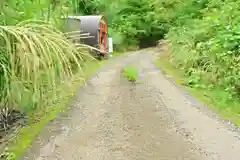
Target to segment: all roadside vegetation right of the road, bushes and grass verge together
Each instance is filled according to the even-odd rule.
[[[175,3],[165,39],[170,55],[160,57],[184,86],[224,117],[240,125],[240,52],[237,1]],[[168,14],[168,12],[166,12]],[[175,17],[175,18],[174,18]],[[167,63],[166,63],[167,62]]]

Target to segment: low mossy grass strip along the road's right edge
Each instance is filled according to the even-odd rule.
[[[166,53],[166,52],[165,52]],[[154,63],[161,67],[168,75],[174,78],[176,83],[184,87],[191,95],[207,104],[210,108],[228,118],[240,126],[240,101],[237,98],[229,98],[229,93],[218,87],[205,86],[199,76],[185,75],[184,70],[176,67],[175,63],[169,63],[169,55],[162,53]],[[201,86],[202,85],[202,86]]]

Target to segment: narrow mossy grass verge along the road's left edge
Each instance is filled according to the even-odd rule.
[[[91,77],[96,70],[105,63],[106,61],[100,61],[100,63],[97,63],[96,60],[88,59],[82,66],[84,77]],[[29,124],[19,130],[17,137],[10,143],[11,145],[5,151],[4,157],[10,158],[14,156],[15,159],[13,158],[12,160],[22,158],[24,152],[30,147],[35,140],[35,137],[44,126],[59,116],[60,112],[64,112],[72,103],[72,98],[75,96],[78,88],[85,84],[82,77],[83,73],[77,72],[72,77],[68,78],[66,83],[59,85],[57,88],[58,100],[48,105],[46,110],[37,111],[29,117]],[[36,117],[39,118],[37,119],[37,123]]]

